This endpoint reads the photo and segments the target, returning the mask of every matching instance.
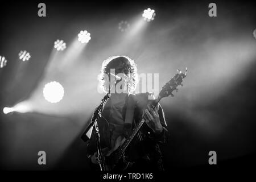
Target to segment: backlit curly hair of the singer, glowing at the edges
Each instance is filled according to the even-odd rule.
[[[118,66],[121,66],[121,69],[116,69]],[[101,73],[98,75],[98,81],[100,81],[100,87],[105,92],[108,93],[108,84],[106,84],[105,78],[110,69],[115,69],[115,74],[125,73],[129,75],[128,82],[128,92],[134,92],[138,84],[138,73],[137,65],[134,63],[134,60],[130,59],[128,56],[112,56],[104,60],[101,67]]]

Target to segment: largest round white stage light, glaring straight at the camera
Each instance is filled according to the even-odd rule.
[[[44,85],[43,94],[48,102],[56,103],[62,100],[64,88],[59,82],[51,81]]]

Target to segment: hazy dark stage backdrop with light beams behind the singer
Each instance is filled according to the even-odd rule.
[[[38,17],[39,1],[1,2],[0,55],[8,63],[0,69],[0,107],[30,100],[36,108],[6,115],[1,111],[1,169],[89,169],[80,135],[102,98],[95,91],[101,62],[116,54],[135,59],[139,73],[159,73],[159,87],[177,68],[188,67],[184,87],[161,102],[170,131],[162,146],[167,171],[209,167],[211,150],[220,167],[255,163],[253,1],[214,1],[216,18],[208,16],[212,1],[43,2],[45,18]],[[155,20],[120,47],[118,22],[132,22],[147,7],[156,10]],[[86,28],[92,40],[76,62],[47,69],[53,42],[64,39],[68,47]],[[18,60],[23,49],[31,53],[24,63]],[[58,67],[61,59],[54,61]],[[68,90],[60,104],[48,104],[40,91],[52,79]],[[46,166],[37,163],[40,150],[47,153]]]

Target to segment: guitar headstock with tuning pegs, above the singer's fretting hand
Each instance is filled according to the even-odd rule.
[[[170,95],[174,97],[174,94],[172,94],[172,92],[174,90],[176,90],[176,92],[178,91],[177,86],[183,86],[181,82],[183,81],[183,78],[187,76],[187,68],[185,69],[185,73],[181,72],[180,69],[178,69],[177,72],[178,73],[163,86],[162,90],[159,93],[160,98],[168,97]]]

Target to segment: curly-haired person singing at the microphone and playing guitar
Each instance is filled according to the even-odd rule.
[[[110,57],[102,63],[98,80],[104,92],[111,90],[102,118],[97,122],[104,155],[121,146],[144,118],[146,124],[142,125],[125,152],[125,160],[130,164],[125,169],[163,171],[159,144],[167,142],[167,125],[162,107],[158,104],[153,109],[150,105],[150,94],[133,94],[138,82],[137,65],[127,56]],[[90,166],[97,167],[101,161],[97,158],[94,133],[88,142],[87,156]]]

